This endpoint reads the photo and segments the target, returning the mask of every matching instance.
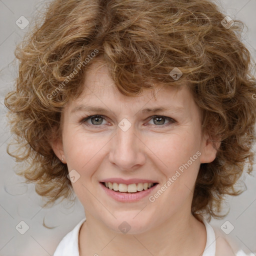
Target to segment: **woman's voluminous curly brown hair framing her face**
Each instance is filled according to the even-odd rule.
[[[4,101],[17,144],[7,152],[28,163],[17,174],[36,183],[47,204],[69,198],[67,166],[50,141],[61,135],[61,111],[80,95],[85,71],[101,58],[127,96],[152,82],[188,84],[202,130],[212,142],[221,138],[216,158],[200,165],[191,212],[221,217],[224,195],[239,194],[236,181],[246,164],[252,170],[256,117],[251,55],[239,37],[244,24],[228,28],[224,18],[209,0],[53,0],[16,47],[18,77]],[[169,75],[174,67],[178,80]]]

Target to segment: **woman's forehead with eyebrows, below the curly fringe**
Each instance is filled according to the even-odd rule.
[[[82,92],[75,100],[70,99],[64,112],[112,112],[115,114],[171,111],[192,115],[198,110],[186,84],[176,88],[154,82],[153,88],[144,88],[140,94],[122,94],[112,80],[106,64],[97,60],[85,72]]]

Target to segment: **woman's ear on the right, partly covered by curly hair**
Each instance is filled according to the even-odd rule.
[[[201,141],[201,163],[212,162],[216,158],[217,149],[220,147],[220,138],[210,138],[208,134],[204,134]]]

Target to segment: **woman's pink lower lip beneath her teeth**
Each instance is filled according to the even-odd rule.
[[[156,184],[146,190],[142,190],[142,191],[135,192],[135,193],[122,193],[122,192],[118,192],[118,191],[109,189],[109,188],[105,187],[102,183],[99,183],[99,184],[101,185],[101,187],[103,188],[103,190],[106,192],[107,195],[111,196],[113,199],[115,199],[116,201],[119,201],[119,202],[138,201],[141,198],[150,194],[152,192],[152,190],[158,185],[158,184]]]

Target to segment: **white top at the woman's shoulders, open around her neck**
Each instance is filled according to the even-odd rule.
[[[86,218],[83,218],[69,233],[67,233],[59,242],[53,256],[79,256],[78,249],[78,235],[82,223]],[[212,226],[201,218],[206,228],[206,245],[201,256],[215,256],[216,252],[216,238]],[[251,254],[254,255],[254,254]],[[246,254],[239,250],[236,256],[246,256]]]

